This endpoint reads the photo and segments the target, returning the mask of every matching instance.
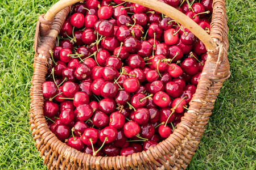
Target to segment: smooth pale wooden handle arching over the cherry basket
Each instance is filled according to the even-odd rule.
[[[80,2],[81,0],[60,0],[55,3],[49,10],[47,11],[44,19],[52,20],[54,16],[62,10],[63,8],[73,5],[74,3]],[[123,1],[123,0],[122,0]],[[156,0],[125,0],[126,2],[133,2],[139,5],[151,8],[152,10],[159,11],[164,15],[169,16],[170,18],[176,20],[177,22],[184,25],[185,28],[189,29],[196,37],[198,37],[205,45],[205,47],[209,50],[213,50],[217,47],[216,43],[213,39],[208,35],[207,32],[204,31],[197,23],[195,23],[192,19],[188,18],[187,15],[183,14],[176,8],[167,5],[166,3],[156,1]]]

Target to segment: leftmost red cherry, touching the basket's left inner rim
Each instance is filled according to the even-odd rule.
[[[56,84],[51,81],[44,82],[42,85],[42,90],[43,96],[46,98],[54,97],[58,92]]]

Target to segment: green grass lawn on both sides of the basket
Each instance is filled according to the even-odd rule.
[[[36,20],[54,2],[0,1],[0,169],[46,169],[28,124],[29,90]],[[188,169],[256,169],[256,2],[226,7],[231,76]]]

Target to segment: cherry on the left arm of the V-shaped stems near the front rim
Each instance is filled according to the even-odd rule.
[[[87,128],[82,134],[82,142],[87,146],[92,146],[92,143],[94,144],[97,142],[98,136],[98,130],[94,128]]]

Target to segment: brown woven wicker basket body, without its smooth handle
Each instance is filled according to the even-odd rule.
[[[72,0],[69,0],[72,2]],[[77,2],[77,1],[76,1]],[[143,1],[136,1],[142,4]],[[75,3],[75,2],[73,2]],[[145,5],[146,6],[146,5]],[[154,8],[153,8],[154,9]],[[229,77],[228,26],[224,0],[213,0],[210,37],[217,47],[208,48],[208,58],[190,107],[180,124],[165,141],[147,151],[115,157],[93,157],[67,146],[53,134],[43,115],[42,83],[46,81],[49,50],[55,45],[52,30],[60,32],[71,7],[58,12],[54,20],[39,17],[35,35],[34,75],[31,87],[30,125],[37,150],[49,169],[185,169],[205,131],[222,83]],[[215,45],[215,44],[213,44]],[[207,45],[206,45],[207,46]],[[207,46],[208,47],[208,46]]]

